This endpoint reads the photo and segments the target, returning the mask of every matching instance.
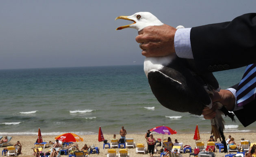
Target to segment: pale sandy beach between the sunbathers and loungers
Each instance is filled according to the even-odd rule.
[[[163,135],[162,134],[157,134],[157,133],[153,133],[154,138],[162,138]],[[256,133],[225,133],[225,136],[228,137],[228,135],[231,135],[234,139],[236,143],[240,143],[241,138],[245,138],[245,140],[249,140],[250,142],[255,142],[256,141]],[[4,136],[4,135],[3,135]],[[184,145],[190,145],[193,148],[195,148],[195,140],[193,140],[193,136],[194,134],[174,134],[174,135],[170,135],[172,142],[174,142],[175,139],[178,140],[178,142],[183,142],[183,146]],[[17,140],[19,140],[22,144],[22,155],[19,155],[20,157],[22,156],[32,156],[33,154],[33,146],[34,143],[37,139],[37,136],[12,136],[12,140],[11,140],[11,144],[15,144],[17,142]],[[54,141],[54,137],[56,136],[43,136],[43,141]],[[76,142],[79,146],[79,148],[82,148],[82,146],[84,144],[87,145],[93,145],[94,146],[99,146],[100,148],[100,154],[90,154],[90,157],[106,157],[107,155],[107,147],[106,149],[103,149],[103,142],[98,142],[98,134],[97,135],[83,135],[81,136],[84,139],[84,142]],[[113,135],[111,134],[104,134],[104,138],[106,140],[110,140],[113,137]],[[164,138],[168,138],[169,136],[164,135]],[[208,138],[210,137],[210,134],[200,134],[201,140],[202,142],[206,142],[208,140]],[[117,138],[119,138],[119,136],[117,135]],[[126,138],[133,138],[135,143],[144,143],[146,144],[146,140],[144,138],[144,134],[127,134]],[[218,141],[219,142],[219,141]],[[0,148],[0,152],[2,152],[2,150],[4,149],[4,147]],[[158,146],[158,150],[160,150],[161,147]],[[45,148],[43,149],[43,152],[47,152],[49,150],[49,148]],[[139,153],[136,154],[136,149],[133,148],[128,148],[128,153],[130,155],[130,157],[148,157],[149,154],[143,154],[143,153]],[[215,152],[216,157],[225,157],[225,153],[219,153],[219,149],[217,149],[217,152]],[[0,154],[2,155],[2,153]],[[65,155],[62,155],[65,156]],[[66,156],[68,157],[68,156]],[[160,153],[154,154],[154,157],[160,157]],[[182,157],[189,157],[189,153],[183,153]]]

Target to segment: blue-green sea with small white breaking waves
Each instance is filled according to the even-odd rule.
[[[245,67],[214,72],[221,89],[238,83]],[[256,132],[223,117],[225,132]],[[210,120],[162,106],[143,65],[0,70],[0,135],[141,134],[165,125],[177,134],[210,133]]]

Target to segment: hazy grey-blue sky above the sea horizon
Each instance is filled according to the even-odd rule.
[[[1,0],[0,69],[143,64],[137,30],[115,30],[140,11],[191,28],[255,12],[253,0]]]

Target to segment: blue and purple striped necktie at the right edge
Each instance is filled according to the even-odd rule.
[[[237,106],[244,106],[255,100],[256,95],[256,64],[246,67],[243,78],[236,89]]]

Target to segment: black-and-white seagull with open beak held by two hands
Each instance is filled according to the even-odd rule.
[[[119,16],[116,19],[133,21],[132,24],[118,27],[116,30],[134,28],[140,31],[148,26],[163,25],[157,17],[149,12]],[[184,27],[179,25],[176,29],[182,28]],[[178,112],[202,115],[202,110],[206,106],[209,108],[213,106],[209,94],[213,94],[213,90],[220,90],[219,83],[211,72],[204,74],[197,72],[193,59],[179,58],[176,54],[165,57],[145,57],[144,72],[158,102],[166,108]],[[221,115],[228,115],[232,120],[234,120],[234,115],[228,112],[221,103],[216,105],[218,105],[217,114],[214,119],[211,119],[212,133],[215,138],[220,140],[222,138],[224,151],[227,151],[223,135],[224,121]],[[213,125],[217,129],[213,128]]]

